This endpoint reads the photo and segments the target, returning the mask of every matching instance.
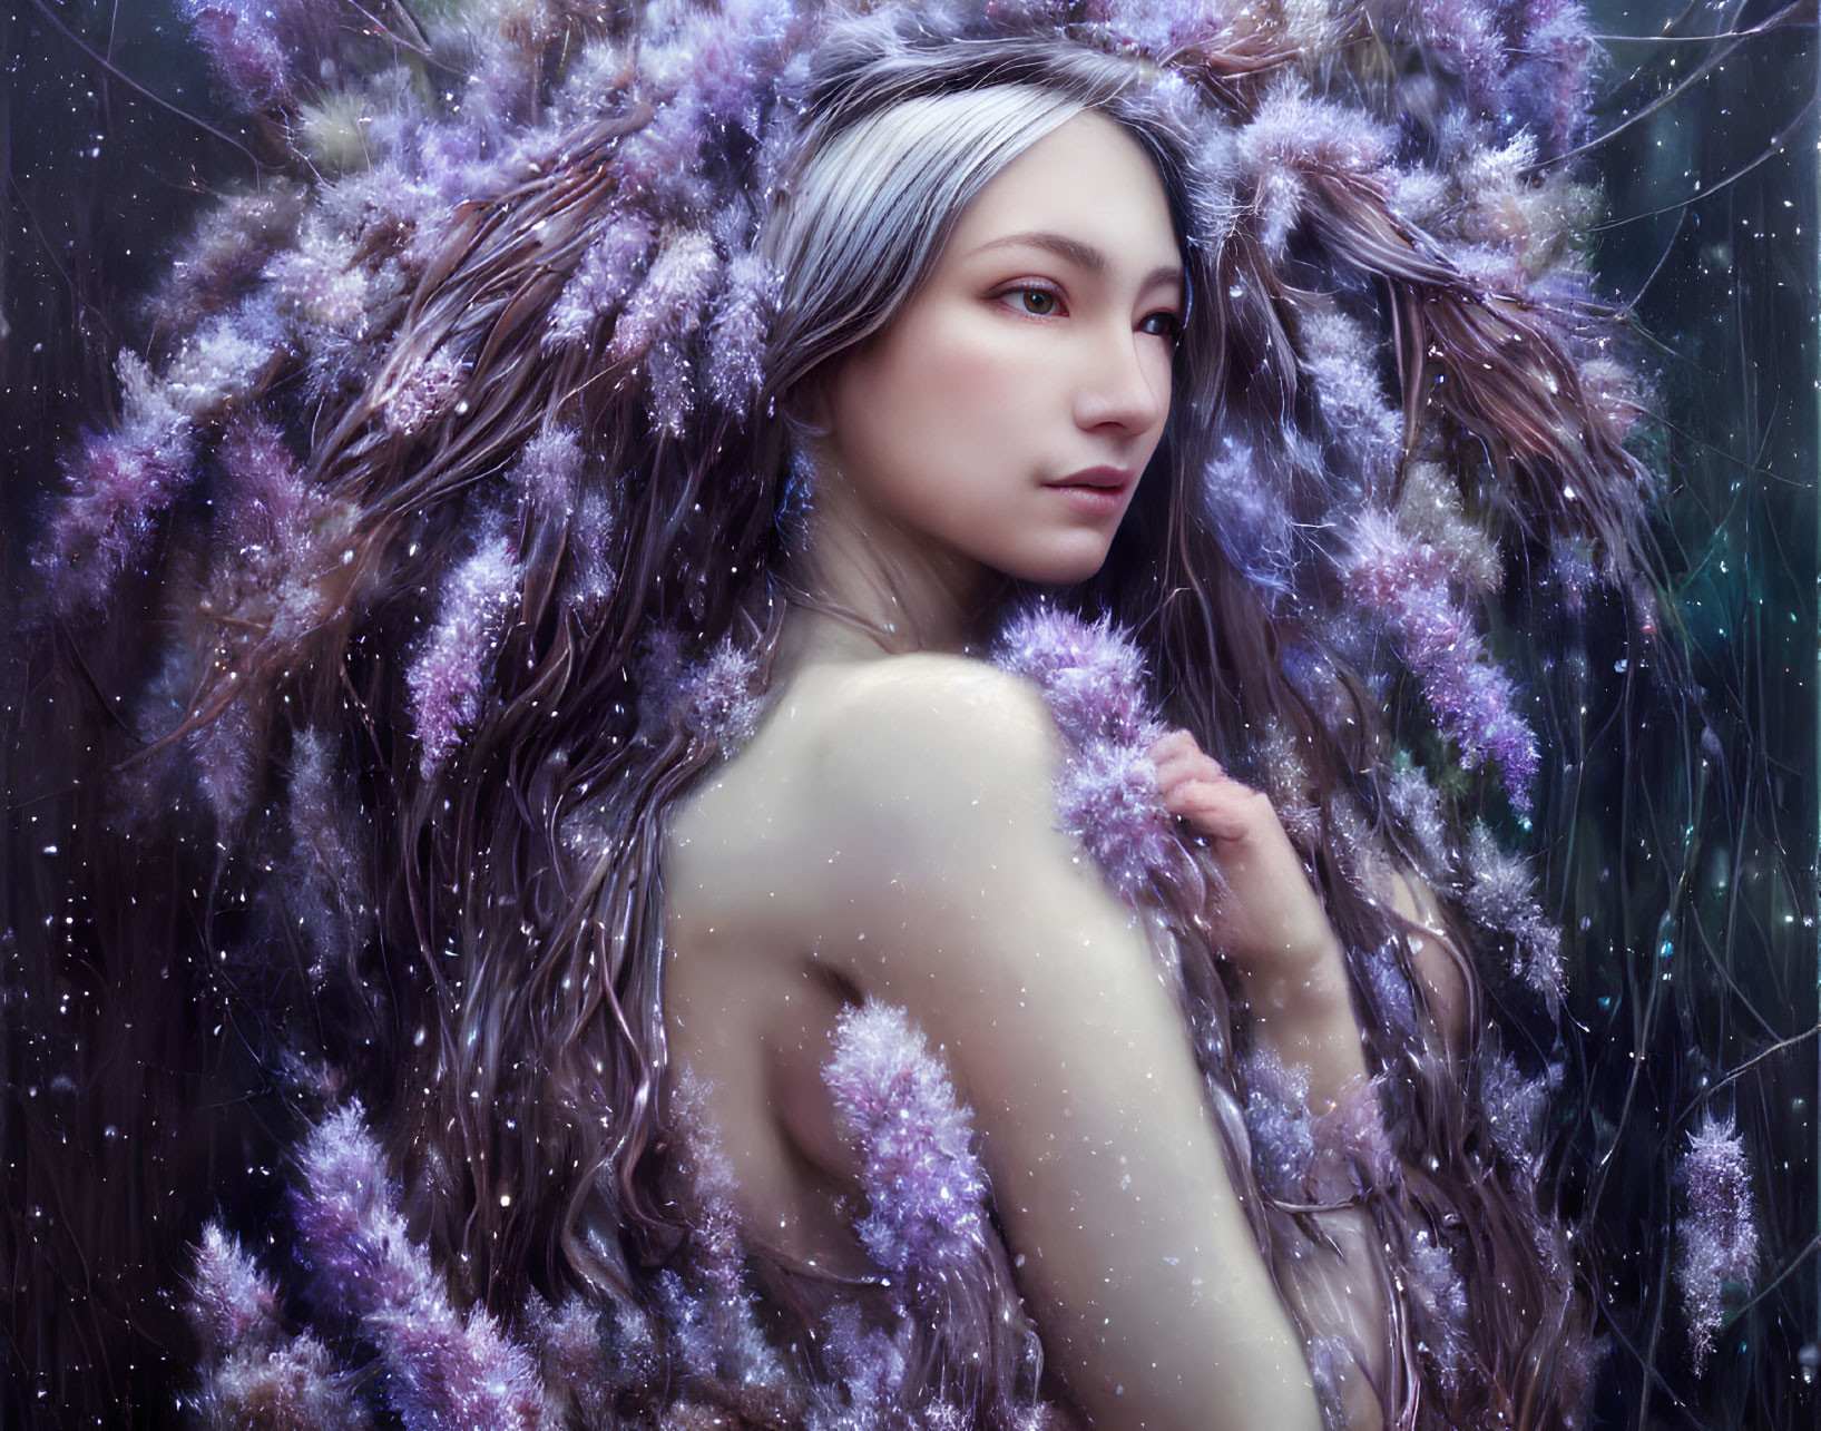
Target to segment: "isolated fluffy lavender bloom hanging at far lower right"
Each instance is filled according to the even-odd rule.
[[[1728,1282],[1746,1291],[1757,1280],[1757,1213],[1752,1203],[1752,1172],[1745,1140],[1734,1123],[1712,1112],[1688,1134],[1688,1152],[1677,1169],[1686,1194],[1686,1213],[1675,1225],[1675,1284],[1683,1289],[1695,1371],[1714,1351],[1723,1320]]]

